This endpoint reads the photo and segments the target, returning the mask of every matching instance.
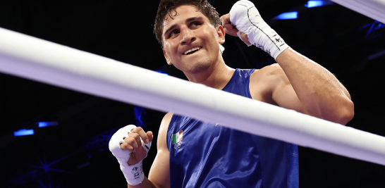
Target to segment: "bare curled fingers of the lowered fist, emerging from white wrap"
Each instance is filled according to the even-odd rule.
[[[124,138],[124,143],[121,144],[121,149],[130,151],[130,158],[128,158],[128,165],[135,165],[147,156],[147,151],[142,146],[142,138],[145,144],[152,142],[154,136],[152,132],[145,132],[142,127],[136,127],[128,133],[128,137]]]

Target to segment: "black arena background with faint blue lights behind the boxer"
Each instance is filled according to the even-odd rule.
[[[224,15],[236,1],[211,2]],[[348,126],[385,136],[385,56],[372,56],[385,50],[385,25],[338,4],[307,8],[307,1],[300,0],[253,2],[293,49],[346,86],[355,103]],[[158,4],[2,0],[0,27],[185,79],[166,65],[152,33]],[[298,11],[298,19],[272,19],[288,11]],[[274,63],[236,37],[227,36],[224,46],[224,59],[233,68]],[[109,137],[128,124],[157,134],[163,115],[0,74],[0,187],[126,187],[107,148]],[[59,121],[59,126],[38,128],[42,120]],[[34,129],[35,134],[13,137],[20,129]],[[156,151],[153,144],[145,174]],[[300,147],[300,187],[385,187],[385,167]]]

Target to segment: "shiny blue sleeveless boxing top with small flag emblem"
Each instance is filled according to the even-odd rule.
[[[222,89],[251,99],[254,70]],[[298,187],[298,146],[173,115],[167,132],[171,187]]]

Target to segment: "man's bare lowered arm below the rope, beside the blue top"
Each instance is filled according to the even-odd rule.
[[[169,167],[169,149],[167,148],[166,137],[167,130],[172,118],[172,113],[164,115],[163,120],[159,128],[158,141],[157,141],[157,156],[152,163],[151,170],[149,170],[148,178],[141,184],[131,186],[128,184],[128,188],[141,188],[141,187],[152,187],[152,188],[165,188],[170,187],[170,167]]]

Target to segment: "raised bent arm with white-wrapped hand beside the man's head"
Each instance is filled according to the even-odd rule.
[[[341,82],[329,70],[291,49],[250,1],[238,1],[221,20],[226,33],[259,47],[279,63],[256,74],[264,75],[259,79],[270,83],[265,94],[270,94],[271,103],[343,125],[353,118],[354,105]]]

